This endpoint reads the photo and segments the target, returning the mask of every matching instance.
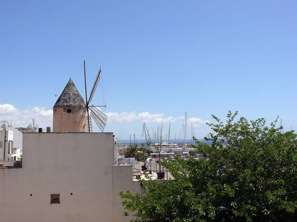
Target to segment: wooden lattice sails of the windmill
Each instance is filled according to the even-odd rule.
[[[88,99],[88,94],[87,94],[87,80],[86,80],[86,63],[84,60],[84,72],[85,72],[85,90],[86,90],[86,109],[87,109],[87,132],[92,133],[93,132],[93,127],[92,127],[92,118],[95,121],[95,123],[98,125],[99,129],[101,132],[103,132],[104,127],[106,125],[107,121],[107,115],[105,115],[102,111],[98,109],[98,107],[106,107],[105,106],[93,106],[91,104],[92,99],[94,97],[96,88],[98,86],[100,77],[101,77],[101,67],[99,69],[99,72],[97,74],[97,77],[95,79],[93,88],[91,90],[89,99]]]

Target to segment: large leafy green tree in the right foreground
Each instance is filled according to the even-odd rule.
[[[175,179],[120,193],[134,222],[297,221],[297,135],[282,133],[277,119],[267,126],[236,115],[225,123],[213,115],[207,143],[195,139],[207,160],[163,160]]]

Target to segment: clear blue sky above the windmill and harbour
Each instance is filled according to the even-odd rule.
[[[105,131],[122,139],[140,139],[144,121],[156,129],[164,120],[164,133],[175,121],[179,135],[186,111],[198,138],[211,114],[225,119],[229,110],[269,122],[279,115],[296,129],[296,8],[295,0],[1,1],[0,119],[51,125],[53,94],[70,76],[84,97],[86,60],[89,92],[102,67],[93,104],[106,104]]]

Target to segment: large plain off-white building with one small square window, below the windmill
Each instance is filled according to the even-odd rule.
[[[141,186],[116,149],[112,133],[24,133],[22,168],[0,168],[0,221],[128,222],[118,193]]]

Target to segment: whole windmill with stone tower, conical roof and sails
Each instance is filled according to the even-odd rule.
[[[90,96],[87,96],[87,81],[86,81],[86,66],[85,70],[85,91],[86,103],[83,97],[78,92],[72,79],[65,86],[63,92],[59,96],[53,106],[53,132],[93,132],[92,118],[103,132],[106,125],[107,115],[93,106],[91,101],[94,97],[96,88],[101,77],[101,68],[97,74]]]

